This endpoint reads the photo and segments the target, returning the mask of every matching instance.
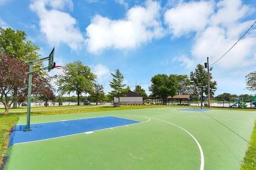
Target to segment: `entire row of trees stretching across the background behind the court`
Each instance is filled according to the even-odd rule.
[[[24,31],[0,27],[0,101],[5,107],[4,114],[8,114],[11,105],[16,108],[20,103],[26,101],[28,80],[25,84],[23,83],[24,73],[29,70],[28,61],[41,57],[37,52],[39,49],[40,47],[32,41],[26,40]],[[43,63],[38,62],[34,64],[33,70],[38,70],[42,66]],[[77,95],[76,101],[90,100],[96,104],[99,101],[112,101],[114,96],[118,98],[125,96],[130,87],[124,84],[124,76],[119,69],[116,69],[114,73],[111,72],[111,75],[113,78],[109,81],[109,85],[113,90],[106,94],[90,67],[81,61],[74,61],[65,64],[63,71],[52,77],[46,71],[33,73],[32,94],[34,98],[44,100],[46,103],[48,100],[58,101],[58,98],[54,96],[55,92],[58,92],[60,96],[74,92]],[[256,91],[255,77],[256,72],[246,76],[246,86],[249,90]],[[52,80],[57,85],[57,89],[54,89]],[[190,94],[191,98],[196,100],[198,98],[196,86],[205,86],[204,94],[214,96],[217,82],[213,80],[211,73],[210,94],[207,91],[207,81],[207,72],[202,64],[198,64],[195,70],[190,72],[190,75],[157,74],[151,78],[151,85],[148,87],[151,92],[149,97],[161,98],[163,104],[166,104],[168,96],[174,95]],[[141,94],[144,99],[148,97],[140,85],[136,85],[133,91]],[[219,95],[217,98],[224,98],[225,100],[236,98],[234,95],[225,95],[228,97]],[[71,99],[70,101],[73,102],[74,96]],[[66,98],[62,97],[61,100],[64,101]],[[80,102],[78,102],[79,104]]]

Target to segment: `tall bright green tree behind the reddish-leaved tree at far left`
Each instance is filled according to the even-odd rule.
[[[38,59],[39,55],[36,52],[40,47],[32,44],[32,41],[26,41],[26,33],[24,31],[14,30],[12,28],[3,29],[0,27],[0,54],[14,56],[22,62],[32,61]],[[36,67],[42,65],[42,62],[38,62]],[[15,75],[14,72],[12,75]],[[24,73],[23,73],[24,74]],[[18,89],[14,86],[13,96],[15,100],[13,101],[13,107],[17,107],[17,92]]]

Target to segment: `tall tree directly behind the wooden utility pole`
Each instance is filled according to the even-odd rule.
[[[193,86],[205,86],[204,93],[208,95],[208,74],[204,70],[204,66],[202,64],[198,64],[196,66],[195,72],[190,72],[190,81]],[[210,73],[210,95],[214,96],[214,92],[216,91],[217,82],[212,81],[212,74]]]

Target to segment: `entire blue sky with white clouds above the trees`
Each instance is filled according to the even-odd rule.
[[[0,0],[1,27],[24,30],[42,57],[55,47],[56,65],[82,61],[105,92],[115,69],[150,94],[156,74],[189,75],[206,57],[212,64],[255,19],[255,0]],[[256,71],[255,35],[256,25],[212,66],[215,96],[254,94],[245,76]]]

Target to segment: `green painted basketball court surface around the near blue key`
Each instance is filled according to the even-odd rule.
[[[162,107],[35,116],[31,123],[108,115],[142,123],[13,145],[5,170],[237,170],[256,118],[255,111]]]

